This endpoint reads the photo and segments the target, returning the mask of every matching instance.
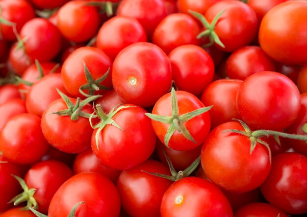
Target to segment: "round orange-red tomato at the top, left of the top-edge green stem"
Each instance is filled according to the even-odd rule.
[[[68,1],[60,7],[57,26],[63,36],[73,42],[86,42],[93,38],[99,28],[99,14],[87,1]]]

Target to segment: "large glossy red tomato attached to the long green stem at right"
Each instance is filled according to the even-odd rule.
[[[268,150],[257,143],[250,154],[250,139],[238,133],[224,132],[229,129],[244,130],[241,123],[233,121],[215,127],[202,148],[202,167],[207,177],[224,190],[252,191],[270,172]]]

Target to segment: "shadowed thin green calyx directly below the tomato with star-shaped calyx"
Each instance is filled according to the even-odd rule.
[[[165,153],[165,151],[163,150],[164,156],[167,160],[168,166],[170,168],[170,171],[172,173],[172,175],[166,175],[166,174],[162,174],[162,173],[156,173],[156,172],[148,172],[148,171],[144,171],[141,170],[143,172],[147,172],[149,174],[161,177],[161,178],[165,178],[168,180],[171,180],[173,182],[178,181],[179,179],[182,179],[184,177],[188,177],[199,165],[199,163],[201,162],[201,157],[199,156],[187,169],[184,169],[183,171],[179,171],[177,172],[170,160],[170,158],[167,156],[167,154]]]

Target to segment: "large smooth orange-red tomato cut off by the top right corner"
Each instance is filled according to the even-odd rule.
[[[260,47],[274,60],[288,65],[307,63],[306,10],[305,0],[287,1],[263,17],[259,28]],[[301,29],[297,34],[288,34],[297,29]]]

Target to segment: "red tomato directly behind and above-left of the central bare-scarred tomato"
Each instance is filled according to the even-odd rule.
[[[136,42],[146,42],[143,26],[131,17],[116,16],[106,21],[97,35],[97,47],[111,59],[124,48]]]

